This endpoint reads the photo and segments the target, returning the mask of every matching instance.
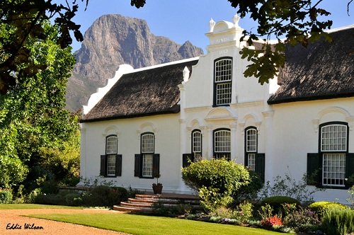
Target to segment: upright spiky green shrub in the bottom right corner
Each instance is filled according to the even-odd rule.
[[[322,229],[328,235],[350,234],[354,231],[354,211],[332,207],[324,212]]]

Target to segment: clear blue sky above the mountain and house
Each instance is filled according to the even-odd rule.
[[[354,2],[349,0],[323,0],[319,7],[331,12],[328,18],[333,21],[333,28],[354,24]],[[142,8],[130,6],[130,0],[89,0],[89,6],[84,11],[85,3],[79,2],[79,12],[74,22],[81,25],[84,33],[96,19],[105,14],[120,14],[147,21],[151,32],[156,36],[170,38],[178,44],[189,40],[193,45],[206,51],[208,39],[205,33],[209,30],[209,21],[230,21],[236,13],[227,0],[146,0]],[[86,2],[86,0],[84,1]],[[256,23],[249,18],[239,21],[241,28],[256,32]],[[72,44],[73,51],[79,50],[81,43]]]

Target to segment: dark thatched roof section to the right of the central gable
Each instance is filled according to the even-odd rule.
[[[287,47],[280,88],[269,104],[354,96],[354,28],[330,35],[331,43]]]

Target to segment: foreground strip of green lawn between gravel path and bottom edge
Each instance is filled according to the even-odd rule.
[[[264,229],[137,214],[34,214],[30,217],[81,224],[128,234],[280,234]]]

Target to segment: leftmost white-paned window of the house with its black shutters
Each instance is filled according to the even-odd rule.
[[[100,175],[105,177],[122,175],[122,155],[118,154],[116,135],[109,135],[105,138],[105,155],[101,155]]]

